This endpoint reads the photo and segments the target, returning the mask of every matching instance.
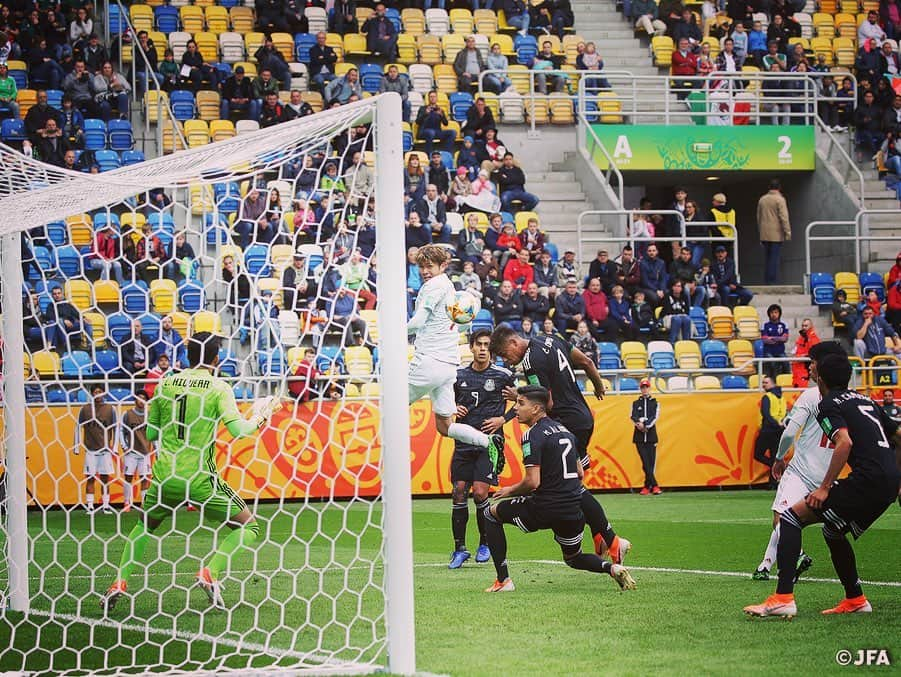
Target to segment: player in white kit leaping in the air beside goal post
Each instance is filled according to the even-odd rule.
[[[438,245],[425,245],[416,255],[422,287],[416,297],[416,310],[407,323],[407,333],[416,334],[413,359],[410,360],[410,404],[426,395],[432,400],[435,427],[444,437],[474,447],[488,449],[497,473],[504,453],[504,436],[488,435],[465,423],[455,423],[457,405],[454,383],[460,365],[460,332],[447,314],[456,290],[445,274],[449,255]]]

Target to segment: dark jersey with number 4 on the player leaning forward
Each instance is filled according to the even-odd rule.
[[[522,358],[522,370],[531,385],[551,391],[553,407],[550,414],[570,430],[585,430],[594,426],[588,403],[576,383],[569,354],[572,346],[559,336],[539,336],[529,341]]]

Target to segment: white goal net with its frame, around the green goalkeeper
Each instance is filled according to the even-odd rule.
[[[0,671],[412,671],[401,164],[393,95],[102,174],[0,146]],[[199,332],[219,404],[150,442]],[[232,396],[280,401],[236,438]]]

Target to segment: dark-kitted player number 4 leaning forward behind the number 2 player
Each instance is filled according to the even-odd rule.
[[[594,417],[579,390],[573,367],[582,369],[594,386],[598,399],[604,398],[604,384],[594,362],[578,348],[556,335],[524,339],[510,327],[498,327],[491,335],[491,353],[508,364],[520,364],[531,385],[540,385],[551,393],[550,411],[576,438],[576,451],[582,468],[588,468],[588,443],[594,433]],[[632,544],[613,531],[604,508],[583,487],[582,512],[594,538],[595,552],[609,554],[616,564],[622,564]]]

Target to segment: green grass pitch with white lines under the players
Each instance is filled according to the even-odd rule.
[[[822,580],[835,574],[819,529],[808,528],[804,545],[814,566],[796,590],[798,617],[785,622],[741,613],[775,586],[750,579],[769,536],[771,492],[601,500],[617,531],[634,543],[626,562],[638,581],[634,592],[564,566],[550,533],[508,527],[517,590],[487,595],[490,563],[446,568],[450,500],[414,502],[418,668],[452,675],[828,674],[848,669],[836,663],[839,650],[868,648],[889,651],[893,666],[880,670],[901,665],[897,505],[855,544],[861,577],[873,582],[864,591],[874,613],[820,615],[842,589]],[[243,601],[229,613],[206,610],[192,588],[214,534],[196,529],[196,513],[180,512],[161,544],[148,548],[149,566],[133,577],[133,596],[104,618],[96,595],[113,576],[120,532],[135,516],[31,513],[35,613],[23,620],[7,612],[0,620],[0,670],[220,670],[292,664],[299,656],[384,661],[377,641],[382,572],[373,564],[378,508],[264,505],[258,514],[265,542],[255,555],[238,556],[225,597]],[[469,535],[474,552],[474,515]]]

